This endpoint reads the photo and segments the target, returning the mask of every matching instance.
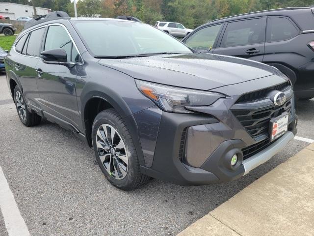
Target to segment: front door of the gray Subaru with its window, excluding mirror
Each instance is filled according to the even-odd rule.
[[[60,25],[49,26],[43,51],[62,48],[68,62],[80,59],[78,51],[67,30]],[[44,111],[61,118],[75,127],[79,126],[76,78],[80,65],[48,64],[40,60],[36,66],[37,86]]]

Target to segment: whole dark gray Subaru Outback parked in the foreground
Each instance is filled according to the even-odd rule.
[[[293,90],[274,67],[198,53],[149,25],[71,19],[26,23],[5,59],[26,126],[46,118],[94,148],[105,177],[130,190],[248,174],[293,139]]]

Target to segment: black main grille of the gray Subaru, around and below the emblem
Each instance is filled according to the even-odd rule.
[[[292,99],[280,107],[273,105],[262,109],[232,110],[232,113],[241,122],[251,137],[258,139],[260,136],[268,137],[269,121],[271,118],[278,117],[284,112],[288,112],[290,115],[291,107]]]

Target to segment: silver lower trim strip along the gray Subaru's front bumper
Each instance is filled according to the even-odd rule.
[[[274,144],[271,144],[269,147],[265,148],[264,150],[260,151],[254,156],[251,156],[250,158],[244,160],[242,162],[245,170],[243,176],[245,176],[247,173],[258,167],[259,165],[268,161],[270,158],[272,158],[274,155],[276,155],[278,152],[284,149],[289,143],[289,141],[293,138],[294,134],[291,131],[288,131]]]

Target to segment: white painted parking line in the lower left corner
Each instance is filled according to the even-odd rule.
[[[25,221],[0,167],[0,209],[9,236],[29,236]]]

